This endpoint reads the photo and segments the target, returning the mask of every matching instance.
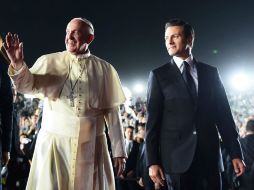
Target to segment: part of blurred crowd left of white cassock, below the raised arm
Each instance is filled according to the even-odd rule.
[[[42,102],[36,98],[25,98],[13,91],[14,112],[11,159],[7,170],[2,170],[4,189],[25,189],[36,137],[42,118]]]

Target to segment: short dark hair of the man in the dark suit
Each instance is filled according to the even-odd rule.
[[[167,22],[165,24],[165,30],[170,26],[181,26],[181,27],[183,27],[184,37],[188,38],[188,37],[192,36],[193,39],[194,39],[194,36],[195,36],[194,35],[194,29],[189,23],[187,23],[187,22],[185,22],[181,19],[175,18],[175,19],[171,19],[169,22]]]

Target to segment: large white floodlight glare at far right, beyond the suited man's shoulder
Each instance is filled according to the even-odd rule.
[[[235,90],[245,91],[251,87],[252,80],[246,73],[240,72],[232,76],[231,85]]]

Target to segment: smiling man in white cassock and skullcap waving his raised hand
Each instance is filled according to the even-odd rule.
[[[105,123],[117,175],[124,169],[119,105],[125,96],[113,66],[90,53],[93,39],[92,23],[74,18],[66,28],[67,51],[43,55],[28,69],[23,43],[6,35],[16,89],[44,97],[27,190],[114,190]]]

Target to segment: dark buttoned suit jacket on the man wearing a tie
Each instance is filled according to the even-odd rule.
[[[231,158],[242,158],[238,133],[218,71],[201,62],[195,61],[195,64],[197,105],[193,104],[173,60],[154,69],[149,76],[147,164],[162,165],[166,173],[187,171],[196,151],[202,158],[201,167],[222,171],[218,131]]]

